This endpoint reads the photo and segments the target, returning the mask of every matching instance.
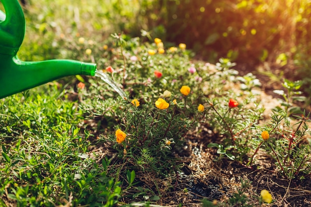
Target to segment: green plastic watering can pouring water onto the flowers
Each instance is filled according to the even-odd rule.
[[[25,35],[25,18],[18,0],[1,0],[0,99],[68,75],[95,75],[96,64],[73,60],[24,62],[16,53]]]

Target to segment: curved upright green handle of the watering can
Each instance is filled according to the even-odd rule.
[[[5,14],[0,11],[0,53],[16,55],[25,35],[25,17],[18,0],[1,0]]]

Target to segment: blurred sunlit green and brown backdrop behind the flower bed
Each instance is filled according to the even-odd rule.
[[[78,36],[101,47],[111,33],[186,43],[196,58],[230,58],[241,70],[263,63],[311,92],[310,0],[26,0],[20,57],[83,59]],[[146,35],[147,34],[147,35]],[[150,35],[150,36],[149,36]],[[73,51],[72,53],[68,51]],[[68,54],[69,53],[69,54]]]

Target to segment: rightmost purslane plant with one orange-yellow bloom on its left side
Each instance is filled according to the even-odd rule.
[[[302,112],[301,115],[292,115],[298,111],[293,100],[303,100],[304,97],[295,98],[295,91],[300,88],[300,81],[285,80],[283,84],[286,92],[278,90],[284,100],[281,100],[281,107],[276,107],[271,115],[270,123],[264,127],[257,149],[250,159],[251,165],[254,155],[260,147],[264,148],[276,161],[279,174],[288,179],[304,179],[311,175],[311,143],[306,138],[309,134],[308,122],[310,113]],[[295,110],[294,110],[295,109]]]

